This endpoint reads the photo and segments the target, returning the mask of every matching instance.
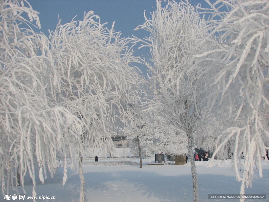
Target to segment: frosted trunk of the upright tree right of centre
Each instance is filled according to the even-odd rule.
[[[198,202],[199,201],[199,196],[198,196],[198,182],[197,182],[197,172],[196,172],[196,166],[194,162],[193,156],[193,134],[187,133],[188,136],[188,152],[190,156],[190,168],[192,170],[192,186],[193,186],[193,201]]]

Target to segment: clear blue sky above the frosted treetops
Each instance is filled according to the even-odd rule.
[[[142,25],[144,20],[144,10],[146,16],[150,17],[150,12],[155,9],[155,0],[29,0],[32,8],[38,12],[41,29],[36,32],[43,32],[49,36],[48,29],[54,31],[58,23],[58,15],[61,24],[71,21],[72,18],[83,20],[84,12],[94,11],[100,16],[101,23],[108,22],[107,27],[111,28],[115,21],[114,30],[122,32],[122,37],[132,37],[132,34],[139,38],[144,38],[148,34],[144,30],[133,31],[138,25]],[[192,5],[201,3],[206,6],[203,0],[192,0]],[[147,57],[148,48],[137,50],[135,55]],[[146,69],[137,65],[146,73]]]

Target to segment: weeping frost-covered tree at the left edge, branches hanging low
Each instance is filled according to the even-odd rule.
[[[27,1],[0,1],[0,182],[2,192],[24,185],[29,173],[36,196],[36,170],[44,182],[53,176],[63,157],[66,180],[70,137],[79,138],[80,120],[48,97],[49,77],[55,74],[49,60],[47,38],[31,27],[38,13]],[[27,18],[28,16],[28,18]],[[50,64],[49,66],[47,64]],[[17,178],[17,179],[16,179]],[[64,183],[63,182],[63,183]]]

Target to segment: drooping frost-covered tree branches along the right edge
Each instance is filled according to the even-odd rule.
[[[236,178],[242,181],[240,194],[245,186],[251,186],[253,166],[262,176],[261,157],[268,149],[268,67],[269,67],[269,1],[216,1],[208,11],[211,38],[218,61],[209,69],[212,74],[212,100],[210,110],[226,114],[228,121],[218,150],[227,142],[234,141],[233,168]],[[197,55],[210,58],[213,51]],[[216,107],[215,107],[216,108]],[[244,153],[244,171],[240,175],[236,159]]]

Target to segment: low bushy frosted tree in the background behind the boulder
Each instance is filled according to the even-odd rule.
[[[154,153],[187,153],[186,133],[178,130],[174,125],[168,125],[164,118],[155,116],[153,112],[144,112],[141,122],[143,127],[139,130],[139,142],[144,156]],[[128,124],[122,132],[128,139],[133,140],[134,144],[130,145],[130,150],[137,155],[138,146],[133,124]]]

